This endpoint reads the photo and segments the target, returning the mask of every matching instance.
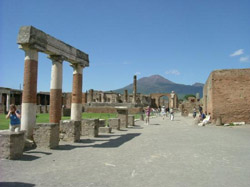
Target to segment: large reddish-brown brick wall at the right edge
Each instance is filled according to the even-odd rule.
[[[213,71],[203,89],[204,111],[222,123],[250,123],[250,69]]]

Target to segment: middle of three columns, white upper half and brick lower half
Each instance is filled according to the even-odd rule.
[[[50,123],[59,123],[62,115],[62,56],[51,55],[51,82],[50,82]]]

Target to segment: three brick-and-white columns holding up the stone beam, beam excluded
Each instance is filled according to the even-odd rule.
[[[36,124],[36,96],[37,96],[37,71],[38,51],[23,47],[25,51],[24,81],[22,95],[21,129],[26,130],[27,138],[32,138],[33,127]],[[64,58],[50,55],[52,60],[50,84],[50,123],[59,123],[62,108],[62,63]],[[72,64],[73,88],[71,104],[71,120],[80,121],[82,114],[82,70],[81,65]]]

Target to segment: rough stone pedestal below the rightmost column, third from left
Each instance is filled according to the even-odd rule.
[[[78,142],[81,136],[81,121],[61,120],[60,138],[67,142]]]

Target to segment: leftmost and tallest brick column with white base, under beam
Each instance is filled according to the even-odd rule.
[[[26,137],[32,139],[33,127],[36,124],[36,94],[38,51],[22,48],[25,51],[21,130],[26,131]]]

